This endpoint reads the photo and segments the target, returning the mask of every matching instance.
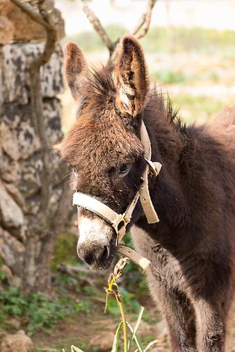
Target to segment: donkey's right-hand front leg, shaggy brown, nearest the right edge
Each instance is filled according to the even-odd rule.
[[[194,303],[197,315],[198,346],[202,352],[225,351],[226,313],[221,304],[213,305],[204,299]]]

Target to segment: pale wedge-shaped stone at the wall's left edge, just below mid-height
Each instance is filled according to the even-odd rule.
[[[20,227],[24,224],[24,215],[14,199],[0,181],[0,215],[6,227]]]

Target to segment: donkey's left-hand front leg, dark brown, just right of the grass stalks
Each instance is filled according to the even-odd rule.
[[[186,295],[152,278],[150,290],[168,324],[173,352],[196,352],[195,312]]]

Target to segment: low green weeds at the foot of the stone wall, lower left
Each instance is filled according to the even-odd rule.
[[[50,333],[61,319],[90,313],[90,306],[91,301],[76,301],[68,294],[52,299],[41,292],[22,294],[17,287],[10,287],[0,292],[0,327],[9,327],[8,321],[17,318],[29,335],[38,330]]]

